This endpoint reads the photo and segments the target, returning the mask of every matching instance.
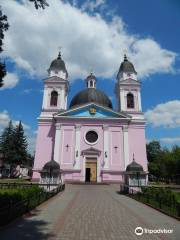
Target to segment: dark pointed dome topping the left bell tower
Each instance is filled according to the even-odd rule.
[[[50,71],[54,72],[63,71],[66,73],[66,78],[68,77],[68,72],[66,70],[65,63],[61,58],[61,53],[59,53],[58,57],[51,62],[48,72],[50,73]]]

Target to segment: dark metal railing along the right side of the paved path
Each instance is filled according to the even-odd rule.
[[[141,188],[139,189],[140,191],[137,191],[128,185],[121,185],[120,192],[127,194],[129,197],[137,201],[161,210],[170,216],[174,216],[180,219],[180,202],[175,199],[175,196],[173,194],[169,194],[169,196],[166,197],[163,196],[161,192],[157,191],[159,188],[155,188],[153,194],[148,191],[141,191]],[[146,187],[146,189],[148,190],[148,187]]]

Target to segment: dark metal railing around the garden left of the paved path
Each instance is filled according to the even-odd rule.
[[[10,189],[10,188],[27,188],[32,187],[34,185],[38,185],[39,187],[49,187],[49,184],[24,184],[24,183],[1,183],[0,188],[2,189]],[[54,184],[55,185],[55,184]],[[12,221],[16,217],[27,213],[28,211],[32,210],[42,202],[48,200],[49,198],[53,197],[57,193],[63,191],[65,189],[65,184],[57,185],[51,191],[42,191],[36,194],[34,197],[29,197],[22,201],[12,203],[10,201],[5,207],[0,208],[0,226],[7,224],[8,222]]]

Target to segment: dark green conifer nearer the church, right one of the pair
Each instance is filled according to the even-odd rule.
[[[15,145],[15,157],[14,161],[18,164],[27,164],[28,152],[27,152],[27,139],[24,135],[24,129],[21,121],[14,129],[13,141]]]

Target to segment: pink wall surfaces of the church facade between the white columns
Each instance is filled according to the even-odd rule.
[[[90,147],[96,148],[101,151],[98,161],[100,166],[104,160],[104,134],[103,124],[109,125],[109,173],[102,174],[102,180],[120,181],[122,176],[116,171],[123,171],[124,167],[124,149],[123,149],[123,132],[122,123],[116,121],[86,121],[86,120],[74,120],[69,121],[67,119],[61,120],[61,145],[59,147],[59,163],[63,170],[66,171],[66,180],[80,180],[83,179],[83,156],[80,156],[80,168],[81,171],[75,172],[73,167],[75,159],[75,124],[81,124],[81,136],[80,136],[80,152]],[[99,135],[98,142],[94,145],[90,145],[84,141],[85,133],[89,130],[97,131]],[[52,144],[54,139],[54,126],[50,123],[41,123],[38,128],[36,154],[34,170],[40,170],[44,164],[51,160]],[[146,159],[146,141],[144,126],[129,125],[129,163],[132,162],[133,153],[135,154],[135,160],[140,163],[144,170],[147,170]],[[66,146],[69,146],[68,148]],[[117,148],[115,149],[114,147]],[[101,167],[101,169],[103,169]],[[112,171],[112,172],[111,172]],[[114,171],[114,173],[113,173]],[[100,173],[101,174],[101,173]],[[39,174],[34,172],[33,178],[39,178]]]

